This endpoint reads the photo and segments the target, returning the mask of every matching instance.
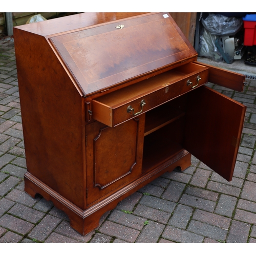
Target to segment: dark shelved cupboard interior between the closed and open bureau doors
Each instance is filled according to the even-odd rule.
[[[183,150],[187,94],[145,113],[142,172]]]

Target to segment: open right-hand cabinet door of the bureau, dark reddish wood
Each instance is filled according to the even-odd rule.
[[[232,180],[246,106],[208,87],[188,95],[184,148]]]

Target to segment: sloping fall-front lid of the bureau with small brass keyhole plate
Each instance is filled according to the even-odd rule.
[[[86,27],[50,41],[84,95],[197,55],[168,13]]]

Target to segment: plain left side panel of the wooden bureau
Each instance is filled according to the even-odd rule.
[[[45,37],[14,38],[28,172],[82,208],[82,98]]]

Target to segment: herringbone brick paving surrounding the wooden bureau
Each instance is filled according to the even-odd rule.
[[[0,243],[256,243],[256,80],[243,93],[209,87],[247,105],[234,177],[195,157],[106,212],[81,236],[51,201],[24,191],[26,159],[13,40],[0,40]]]

